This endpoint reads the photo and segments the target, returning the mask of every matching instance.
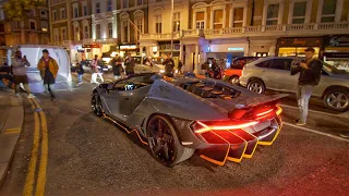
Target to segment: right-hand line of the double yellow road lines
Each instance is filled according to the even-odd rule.
[[[47,121],[46,115],[43,111],[39,111],[41,119],[41,157],[40,157],[40,166],[38,179],[36,182],[36,192],[35,196],[44,196],[45,195],[45,185],[46,185],[46,170],[47,170],[47,158],[48,158],[48,133],[47,133]]]

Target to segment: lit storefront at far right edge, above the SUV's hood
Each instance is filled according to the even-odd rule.
[[[349,72],[349,35],[326,36],[324,48],[326,63]]]

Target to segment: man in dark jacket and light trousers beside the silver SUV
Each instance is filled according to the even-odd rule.
[[[314,48],[305,49],[305,61],[292,65],[291,75],[300,72],[297,87],[297,100],[300,110],[300,118],[294,122],[302,126],[306,124],[309,99],[312,95],[314,86],[320,83],[323,63],[314,58]]]

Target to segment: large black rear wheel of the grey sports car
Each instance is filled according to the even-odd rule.
[[[194,149],[180,144],[176,127],[168,117],[153,115],[147,122],[146,135],[153,157],[164,166],[173,167],[194,154]]]

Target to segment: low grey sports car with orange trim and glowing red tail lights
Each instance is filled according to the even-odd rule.
[[[281,130],[278,99],[221,81],[135,74],[100,84],[92,109],[134,134],[165,166],[196,152],[222,166],[251,158],[257,145],[272,145]]]

